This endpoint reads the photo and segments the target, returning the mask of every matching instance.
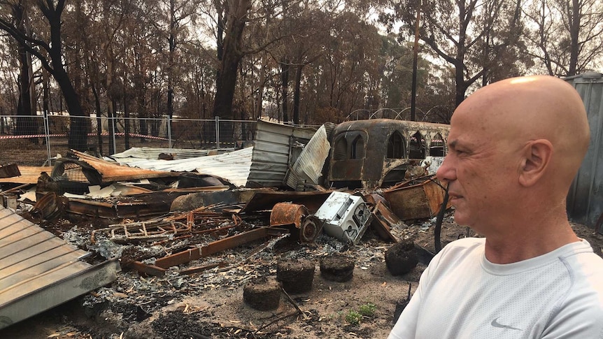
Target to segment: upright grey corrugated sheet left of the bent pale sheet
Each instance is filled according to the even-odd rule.
[[[315,131],[258,121],[248,181],[265,187],[282,187],[290,164],[295,163]]]

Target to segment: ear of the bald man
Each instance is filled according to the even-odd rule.
[[[544,175],[553,155],[553,144],[546,139],[532,140],[525,146],[519,183],[525,187],[534,185]]]

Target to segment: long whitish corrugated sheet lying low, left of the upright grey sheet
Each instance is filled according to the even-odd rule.
[[[158,160],[127,157],[116,160],[120,164],[155,171],[190,172],[197,170],[201,174],[224,178],[236,186],[245,186],[251,167],[252,153],[253,147],[248,147],[229,153],[189,159]]]

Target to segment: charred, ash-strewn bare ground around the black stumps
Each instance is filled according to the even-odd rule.
[[[586,226],[573,226],[597,254],[603,254],[603,236]],[[64,236],[66,229],[63,223],[54,231]],[[392,233],[434,251],[433,230],[433,221],[425,220],[396,225]],[[441,240],[446,245],[467,233],[474,236],[448,216]],[[69,238],[73,240],[73,234]],[[396,306],[404,303],[409,284],[414,291],[425,268],[418,264],[410,273],[393,276],[384,259],[392,244],[371,230],[356,246],[324,235],[311,244],[285,238],[245,259],[257,245],[194,261],[190,266],[216,259],[238,263],[195,275],[172,270],[165,277],[149,277],[123,271],[110,286],[0,330],[0,338],[385,338]],[[336,252],[354,259],[349,281],[325,280],[320,273],[320,259]],[[274,277],[277,263],[286,259],[315,264],[312,289],[291,295],[303,315],[284,294],[274,310],[259,311],[244,303],[245,284]]]

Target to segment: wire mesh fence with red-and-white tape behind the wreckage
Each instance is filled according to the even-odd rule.
[[[70,149],[97,155],[131,147],[233,149],[253,140],[255,121],[168,117],[0,116],[0,164],[52,164]],[[22,155],[22,157],[20,157]],[[38,164],[39,166],[39,164]]]

